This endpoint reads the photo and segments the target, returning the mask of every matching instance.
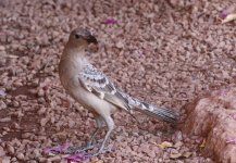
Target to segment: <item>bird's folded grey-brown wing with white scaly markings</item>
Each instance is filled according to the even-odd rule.
[[[78,74],[82,86],[94,95],[98,96],[119,108],[131,111],[128,99],[119,91],[114,84],[91,64],[86,64]]]

